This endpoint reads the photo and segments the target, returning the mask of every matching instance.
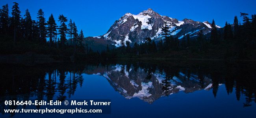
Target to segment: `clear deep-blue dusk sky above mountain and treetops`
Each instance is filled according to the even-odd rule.
[[[249,17],[256,13],[256,0],[0,0],[0,5],[9,4],[11,12],[13,2],[19,3],[22,16],[28,9],[33,20],[40,8],[46,20],[51,13],[56,21],[63,14],[75,21],[79,31],[83,29],[85,37],[103,35],[125,13],[138,14],[148,8],[178,20],[214,19],[221,27],[226,21],[233,23],[240,12],[248,13]]]

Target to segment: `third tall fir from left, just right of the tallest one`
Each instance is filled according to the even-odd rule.
[[[30,16],[30,12],[28,11],[28,9],[26,9],[25,12],[25,39],[26,40],[30,40],[32,39],[32,18]]]

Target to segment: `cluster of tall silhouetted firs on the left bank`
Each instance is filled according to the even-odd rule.
[[[3,54],[24,53],[28,51],[52,53],[58,51],[70,51],[74,53],[83,52],[82,39],[83,31],[78,34],[78,29],[74,21],[70,19],[67,24],[67,17],[59,15],[58,26],[53,14],[46,21],[44,12],[39,9],[37,20],[32,20],[30,12],[26,9],[24,17],[21,16],[19,4],[14,2],[9,16],[8,4],[0,9],[0,43]],[[67,43],[68,37],[70,40]],[[48,40],[46,40],[48,38]],[[30,48],[31,45],[34,45]],[[78,50],[76,50],[78,46]],[[38,48],[41,47],[41,48]],[[43,50],[43,49],[49,50]],[[41,50],[41,51],[40,51]],[[48,52],[49,51],[49,52]],[[87,51],[88,52],[88,51]]]

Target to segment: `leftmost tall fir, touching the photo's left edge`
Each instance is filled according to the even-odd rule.
[[[3,5],[0,12],[0,34],[4,34],[7,36],[7,32],[9,30],[9,8],[8,4]]]

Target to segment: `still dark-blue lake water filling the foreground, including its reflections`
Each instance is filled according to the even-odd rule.
[[[115,61],[0,66],[0,118],[256,118],[255,63]],[[34,99],[109,99],[111,114],[3,113],[5,100]]]

